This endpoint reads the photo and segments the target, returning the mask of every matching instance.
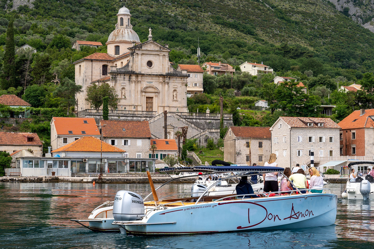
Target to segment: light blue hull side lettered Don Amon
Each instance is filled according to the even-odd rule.
[[[315,193],[186,203],[115,224],[132,234],[190,234],[329,226],[336,215],[337,196]]]

